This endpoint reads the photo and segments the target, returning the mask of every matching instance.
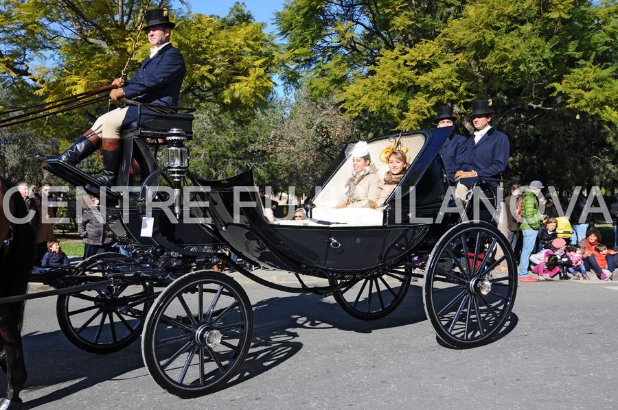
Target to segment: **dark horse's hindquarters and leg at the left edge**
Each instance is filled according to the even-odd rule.
[[[14,190],[5,201],[12,184],[3,178],[0,182],[0,298],[5,298],[26,293],[36,244],[34,228],[29,223],[12,223],[9,219],[9,215],[19,219],[27,216],[21,194]],[[8,378],[0,410],[21,409],[22,405],[19,393],[27,378],[21,342],[24,306],[25,302],[0,303],[0,365]]]

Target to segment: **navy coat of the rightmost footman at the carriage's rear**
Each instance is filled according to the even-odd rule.
[[[474,143],[474,137],[468,138],[466,160],[461,171],[477,171],[478,176],[502,178],[501,173],[509,162],[509,138],[503,132],[490,128]],[[470,187],[479,178],[461,178],[459,182]]]

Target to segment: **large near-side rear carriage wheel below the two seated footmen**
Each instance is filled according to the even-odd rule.
[[[516,261],[506,238],[492,224],[470,221],[450,228],[431,252],[425,312],[450,346],[481,346],[507,322],[516,290]]]

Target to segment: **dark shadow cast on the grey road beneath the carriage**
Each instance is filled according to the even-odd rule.
[[[374,330],[407,326],[426,320],[422,287],[419,285],[411,285],[398,309],[378,320],[356,319],[345,313],[332,297],[313,294],[259,300],[253,304],[253,317],[255,325],[251,350],[240,374],[222,389],[260,376],[294,357],[304,346],[299,340],[299,330],[335,328],[354,333],[371,333]],[[517,316],[512,313],[494,341],[510,333],[517,322]],[[427,326],[422,331],[432,330]],[[436,339],[441,346],[453,348]],[[29,370],[25,388],[32,392],[50,385],[63,385],[49,394],[27,401],[25,408],[43,407],[111,379],[150,378],[145,370],[137,375],[128,374],[144,368],[140,343],[138,339],[124,350],[111,354],[91,354],[71,345],[60,330],[25,334],[24,346]],[[79,365],[71,366],[69,363]],[[4,375],[0,374],[1,377]]]

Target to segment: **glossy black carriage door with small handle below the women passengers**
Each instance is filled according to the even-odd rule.
[[[368,269],[384,258],[385,230],[382,226],[330,229],[325,267],[330,269]]]

